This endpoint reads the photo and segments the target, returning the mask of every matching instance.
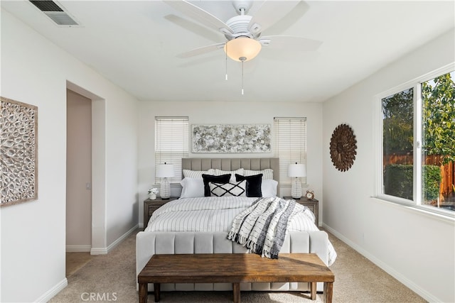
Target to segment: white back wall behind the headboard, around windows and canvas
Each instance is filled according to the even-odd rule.
[[[319,207],[322,197],[322,104],[277,102],[193,102],[193,101],[144,101],[139,107],[139,202],[146,199],[147,189],[154,184],[154,131],[155,116],[188,116],[189,124],[270,124],[274,117],[307,117],[307,183],[314,189]],[[274,156],[272,153],[190,153],[195,158],[262,158]],[[191,138],[190,138],[191,151]],[[171,194],[178,194],[178,187],[171,188]],[[304,190],[306,192],[306,190]],[[290,187],[282,187],[280,194],[290,195]],[[143,224],[143,206],[139,210],[139,225]],[[320,213],[321,216],[321,213]]]

